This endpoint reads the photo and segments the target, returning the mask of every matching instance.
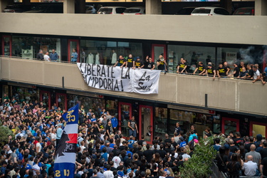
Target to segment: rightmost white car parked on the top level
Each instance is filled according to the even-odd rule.
[[[192,11],[192,16],[224,16],[229,15],[229,11],[221,7],[197,7]]]

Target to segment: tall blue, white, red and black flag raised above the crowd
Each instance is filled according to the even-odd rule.
[[[55,177],[74,177],[78,138],[78,110],[78,105],[75,105],[63,115],[67,123],[56,148]]]

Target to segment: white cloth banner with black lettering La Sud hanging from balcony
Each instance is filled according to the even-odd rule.
[[[160,70],[88,63],[77,63],[77,66],[90,87],[141,94],[158,93]]]

